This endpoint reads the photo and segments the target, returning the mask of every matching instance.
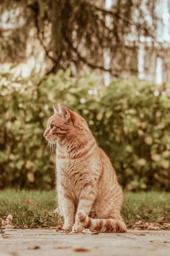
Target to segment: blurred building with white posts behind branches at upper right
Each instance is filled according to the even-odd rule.
[[[110,9],[116,0],[106,0],[105,8]],[[145,20],[149,26],[153,25],[153,20],[146,8],[146,0],[143,0],[143,11]],[[139,42],[134,46],[136,40],[136,31],[132,29],[131,35],[127,40],[128,54],[124,59],[125,71],[122,72],[123,77],[136,76],[140,80],[148,80],[151,83],[161,84],[170,80],[170,1],[157,0],[155,15],[158,17],[155,38],[140,37]],[[134,13],[135,20],[135,13]],[[109,17],[106,23],[109,26]],[[132,42],[132,44],[131,44]],[[110,60],[109,52],[105,56],[105,68],[110,65],[119,67],[119,56],[115,60]],[[121,67],[120,67],[121,68]],[[106,86],[110,82],[109,73],[105,73],[104,80]]]

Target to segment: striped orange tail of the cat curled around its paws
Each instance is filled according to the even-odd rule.
[[[116,219],[92,219],[83,210],[78,210],[76,217],[79,225],[85,229],[99,231],[101,233],[121,233],[126,232],[126,225],[121,220]]]

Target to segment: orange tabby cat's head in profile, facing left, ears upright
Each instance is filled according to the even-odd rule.
[[[91,131],[84,118],[66,108],[62,103],[58,107],[53,105],[54,115],[47,121],[47,128],[44,132],[45,138],[51,143],[68,141],[91,135]]]

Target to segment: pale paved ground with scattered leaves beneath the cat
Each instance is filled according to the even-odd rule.
[[[75,247],[89,252],[76,252]],[[0,256],[170,256],[170,231],[67,234],[56,230],[11,229],[0,232]]]

